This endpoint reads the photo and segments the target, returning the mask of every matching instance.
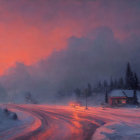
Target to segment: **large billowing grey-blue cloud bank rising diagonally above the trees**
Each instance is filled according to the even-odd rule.
[[[139,75],[139,52],[140,36],[120,41],[110,28],[99,27],[81,38],[70,37],[65,49],[34,65],[17,62],[0,77],[0,96],[4,93],[8,101],[24,102],[30,92],[39,101],[51,102],[57,93],[71,95],[87,83],[93,86],[111,76],[119,78],[128,61]]]

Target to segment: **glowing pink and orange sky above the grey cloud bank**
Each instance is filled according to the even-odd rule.
[[[0,0],[0,73],[67,48],[72,36],[94,38],[101,26],[119,42],[139,36],[139,15],[139,0]]]

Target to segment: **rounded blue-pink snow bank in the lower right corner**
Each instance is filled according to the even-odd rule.
[[[93,140],[140,140],[140,125],[113,122],[99,127]]]

